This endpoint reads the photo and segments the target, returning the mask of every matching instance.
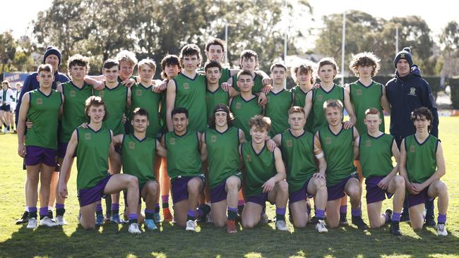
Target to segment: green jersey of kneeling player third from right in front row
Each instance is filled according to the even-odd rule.
[[[353,127],[345,129],[342,126],[340,133],[335,135],[328,125],[318,130],[318,137],[327,161],[327,186],[336,185],[356,173],[353,132]]]

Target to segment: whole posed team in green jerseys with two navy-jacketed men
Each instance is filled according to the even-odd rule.
[[[68,59],[70,80],[58,72],[59,49],[48,47],[16,98],[18,154],[27,171],[25,211],[16,223],[66,224],[76,157],[78,220],[86,229],[129,223],[129,233],[141,233],[141,223],[154,231],[160,221],[174,221],[196,231],[197,222],[207,221],[237,233],[239,223],[268,223],[270,202],[277,230],[289,231],[288,209],[294,227],[313,223],[326,233],[347,225],[349,197],[352,224],[365,230],[365,181],[370,228],[389,224],[401,235],[400,221],[410,221],[414,230],[436,226],[438,235],[448,235],[438,113],[409,48],[396,54],[386,85],[372,80],[378,57],[363,52],[350,62],[356,82],[336,85],[338,66],[324,58],[292,68],[291,90],[284,85],[287,67],[274,63],[270,75],[257,70],[254,51],[242,51],[241,69],[222,68],[220,39],[208,41],[205,56],[201,68],[199,47],[186,44],[179,56],[162,59],[162,80],[154,80],[155,61],[138,62],[131,51],[107,59],[97,76],[87,75],[88,57],[76,54]],[[2,117],[15,111],[8,86],[0,94]],[[391,115],[391,135],[384,133],[383,110]],[[381,213],[386,197],[393,207]]]

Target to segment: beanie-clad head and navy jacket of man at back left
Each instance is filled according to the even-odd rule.
[[[56,47],[53,46],[47,47],[46,51],[44,52],[43,63],[49,63],[54,70],[54,81],[52,82],[52,88],[54,90],[56,90],[57,85],[69,81],[68,77],[64,75],[64,73],[59,73],[57,70],[57,68],[61,65],[61,51],[59,51],[59,49],[56,49]],[[16,104],[16,127],[18,126],[20,102],[22,102],[24,94],[26,92],[30,92],[31,90],[36,90],[40,87],[38,84],[37,75],[37,72],[30,73],[30,75],[28,75],[24,80],[23,89],[20,90],[18,104]]]

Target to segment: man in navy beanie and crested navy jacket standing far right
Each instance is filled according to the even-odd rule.
[[[413,65],[411,49],[405,47],[398,52],[393,61],[396,68],[395,76],[386,83],[386,95],[391,104],[391,135],[395,137],[398,149],[403,138],[415,133],[410,120],[410,113],[425,106],[434,116],[431,135],[439,137],[439,114],[437,113],[434,95],[429,83],[421,77],[417,66]],[[435,226],[434,202],[426,201],[426,224]],[[403,207],[403,221],[409,220],[407,205]]]

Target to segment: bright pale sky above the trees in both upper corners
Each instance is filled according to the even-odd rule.
[[[51,6],[51,3],[52,0],[3,1],[0,32],[13,30],[13,36],[16,38],[21,35],[30,35],[30,30],[27,30],[28,25],[36,18],[39,11],[46,10]],[[321,17],[324,15],[349,10],[360,10],[385,19],[390,19],[393,16],[421,16],[426,20],[433,36],[439,35],[441,29],[449,21],[455,20],[459,23],[457,8],[451,6],[451,0],[309,0],[309,3],[314,8],[314,18],[318,23],[316,26],[320,26]]]

